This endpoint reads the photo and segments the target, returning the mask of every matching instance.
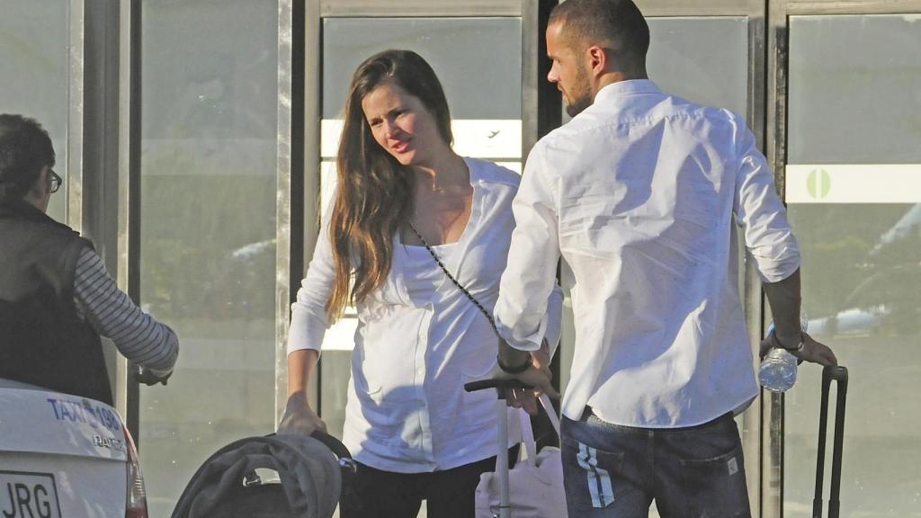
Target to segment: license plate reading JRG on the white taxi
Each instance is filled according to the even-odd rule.
[[[0,516],[61,518],[54,476],[50,473],[0,470]]]

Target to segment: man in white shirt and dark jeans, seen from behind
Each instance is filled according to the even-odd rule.
[[[659,91],[629,0],[567,0],[548,80],[574,118],[530,152],[495,305],[506,377],[529,369],[562,255],[576,347],[563,401],[570,516],[749,516],[734,413],[758,394],[737,230],[774,313],[763,351],[834,364],[799,329],[799,248],[774,177],[736,114]],[[509,347],[510,346],[510,347]],[[514,372],[522,371],[520,374]]]

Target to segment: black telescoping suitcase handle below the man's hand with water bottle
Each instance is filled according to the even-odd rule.
[[[847,401],[847,369],[827,365],[822,370],[822,408],[819,414],[819,455],[815,466],[815,497],[812,518],[822,518],[822,486],[825,475],[825,435],[828,429],[828,393],[832,380],[838,383],[834,408],[834,446],[832,451],[832,492],[828,498],[828,518],[838,518],[841,511],[841,455],[845,436],[845,403]]]

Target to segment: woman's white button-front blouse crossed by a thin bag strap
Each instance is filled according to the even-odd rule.
[[[511,203],[520,177],[492,162],[464,160],[473,187],[470,221],[459,241],[437,247],[437,253],[492,312],[515,226]],[[291,306],[288,354],[320,349],[327,328],[324,307],[335,278],[327,220]],[[450,469],[495,455],[495,391],[463,390],[464,383],[484,378],[495,367],[495,332],[434,259],[419,256],[420,251],[427,255],[424,248],[410,251],[397,235],[393,243],[387,280],[356,308],[343,441],[358,462],[402,473]],[[431,297],[411,297],[410,286],[425,286],[433,278]],[[555,288],[546,320],[547,341],[554,348],[562,302],[562,291]],[[519,427],[514,412],[508,416],[511,445],[519,440]]]

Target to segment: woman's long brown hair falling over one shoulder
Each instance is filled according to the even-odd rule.
[[[345,124],[336,161],[338,188],[332,206],[330,241],[336,278],[326,303],[330,322],[345,306],[379,288],[391,271],[393,235],[413,210],[413,171],[379,146],[361,101],[381,83],[392,81],[422,101],[449,145],[450,112],[435,71],[412,51],[377,53],[358,65],[345,101]],[[355,276],[355,287],[350,279]]]

